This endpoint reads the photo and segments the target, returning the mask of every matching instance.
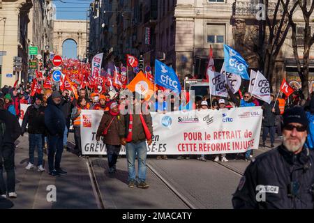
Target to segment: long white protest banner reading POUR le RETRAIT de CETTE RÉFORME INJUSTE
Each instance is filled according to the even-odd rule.
[[[105,155],[103,141],[96,141],[102,111],[82,110],[82,154]],[[244,153],[257,149],[262,125],[261,107],[151,113],[154,137],[149,155]],[[124,146],[121,154],[125,154]]]

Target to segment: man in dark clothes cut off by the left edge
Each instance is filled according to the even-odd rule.
[[[22,133],[17,118],[4,109],[4,101],[0,98],[0,196],[17,197],[15,192],[15,140]],[[6,169],[7,182],[3,180],[3,164]],[[6,186],[7,185],[7,186]]]

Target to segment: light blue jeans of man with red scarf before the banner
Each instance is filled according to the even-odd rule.
[[[126,159],[128,161],[128,181],[135,181],[135,157],[138,162],[138,179],[140,182],[146,180],[146,142],[141,141],[137,144],[126,144]]]

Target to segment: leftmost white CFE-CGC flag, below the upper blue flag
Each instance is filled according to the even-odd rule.
[[[227,97],[227,89],[225,88],[225,75],[220,72],[207,70],[209,76],[209,90],[211,95]]]

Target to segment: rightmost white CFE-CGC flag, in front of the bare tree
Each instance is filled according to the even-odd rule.
[[[257,71],[252,95],[268,104],[271,102],[269,82],[260,71]]]

